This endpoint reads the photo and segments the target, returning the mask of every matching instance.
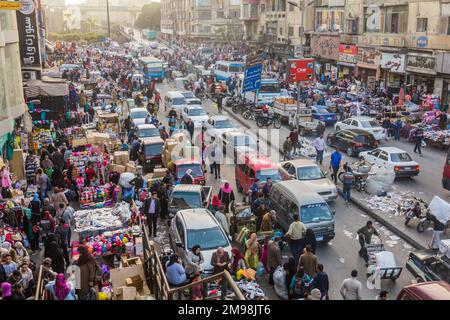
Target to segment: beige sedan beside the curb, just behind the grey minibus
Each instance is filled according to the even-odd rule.
[[[326,177],[327,173],[324,173],[312,160],[296,159],[281,162],[278,170],[283,180],[302,181],[325,201],[334,201],[337,198],[336,185]]]

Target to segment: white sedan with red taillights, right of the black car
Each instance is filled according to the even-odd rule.
[[[395,172],[396,177],[415,177],[420,173],[419,164],[399,148],[384,147],[359,153],[369,163],[387,167]]]

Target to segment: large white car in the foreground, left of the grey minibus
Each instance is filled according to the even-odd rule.
[[[183,264],[188,264],[188,253],[194,245],[202,250],[204,273],[211,274],[213,267],[211,258],[217,248],[222,247],[231,252],[231,243],[214,215],[206,209],[187,209],[177,212],[172,219],[169,239],[175,253],[181,258]]]

